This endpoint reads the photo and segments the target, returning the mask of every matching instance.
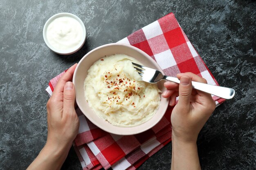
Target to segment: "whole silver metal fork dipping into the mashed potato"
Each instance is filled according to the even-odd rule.
[[[169,80],[171,82],[175,82],[180,84],[180,80],[176,77],[170,77],[167,75],[163,75],[160,71],[155,70],[153,68],[148,68],[146,66],[141,66],[139,64],[133,63],[139,75],[141,75],[142,80],[148,83],[157,83],[162,79]],[[199,82],[192,81],[193,88],[204,91],[206,93],[210,93],[212,95],[216,95],[218,97],[224,99],[232,99],[235,95],[235,90],[233,88],[227,88],[222,86],[214,86],[210,84],[204,84]]]

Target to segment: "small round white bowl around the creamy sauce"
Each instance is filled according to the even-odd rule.
[[[63,17],[63,16],[68,16],[68,17],[71,17],[71,18],[74,18],[75,20],[77,20],[80,24],[81,24],[81,27],[82,27],[82,30],[83,30],[83,37],[81,38],[81,42],[79,42],[79,44],[73,48],[73,49],[70,49],[69,51],[63,51],[63,50],[60,50],[60,49],[56,49],[54,48],[47,40],[47,36],[46,36],[46,32],[47,32],[47,27],[49,26],[49,24],[55,20],[56,18],[59,18],[59,17]],[[72,14],[72,13],[57,13],[55,15],[53,15],[51,18],[49,18],[46,22],[45,22],[45,26],[43,28],[43,38],[45,40],[45,44],[49,47],[49,49],[51,49],[52,51],[54,51],[55,53],[58,53],[58,54],[61,54],[61,55],[69,55],[69,54],[73,54],[75,53],[76,51],[78,51],[79,49],[81,49],[81,47],[83,46],[83,44],[85,43],[85,38],[86,38],[86,31],[85,31],[85,26],[83,24],[83,21],[76,15]]]

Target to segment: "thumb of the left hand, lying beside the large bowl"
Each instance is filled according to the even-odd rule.
[[[63,114],[72,114],[74,111],[76,92],[72,82],[66,82],[63,92]]]

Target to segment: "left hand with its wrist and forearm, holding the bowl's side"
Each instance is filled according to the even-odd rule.
[[[79,119],[74,109],[75,89],[70,82],[76,65],[58,80],[47,102],[47,141],[27,170],[59,170],[67,157],[79,129]]]

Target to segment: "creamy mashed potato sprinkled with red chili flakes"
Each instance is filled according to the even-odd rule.
[[[160,104],[157,84],[143,82],[132,62],[140,64],[124,54],[103,57],[89,68],[84,81],[89,106],[114,126],[142,124]]]

